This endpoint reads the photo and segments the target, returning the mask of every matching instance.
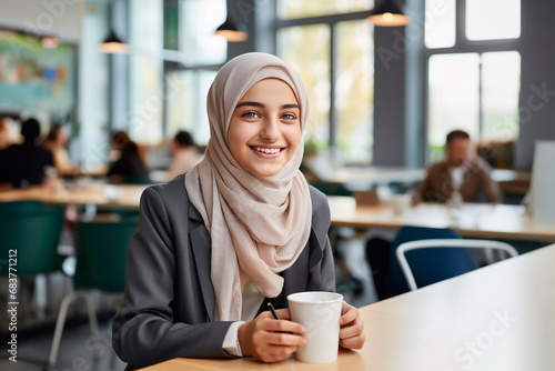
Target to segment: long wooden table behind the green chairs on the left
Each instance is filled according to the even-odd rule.
[[[0,192],[0,202],[34,200],[47,203],[95,204],[139,210],[139,201],[147,186],[93,183],[73,189],[31,187]]]

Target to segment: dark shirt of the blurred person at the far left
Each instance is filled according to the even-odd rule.
[[[12,144],[2,152],[0,178],[17,188],[42,184],[47,178],[44,168],[54,166],[52,152],[33,143]]]

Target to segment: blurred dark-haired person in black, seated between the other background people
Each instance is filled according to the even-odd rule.
[[[112,134],[112,149],[118,157],[108,170],[112,183],[148,183],[147,166],[139,153],[139,146],[124,131]]]

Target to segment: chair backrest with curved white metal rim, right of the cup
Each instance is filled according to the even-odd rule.
[[[464,239],[433,239],[420,240],[402,243],[397,247],[395,253],[406,278],[406,282],[411,290],[416,290],[418,287],[432,284],[445,279],[466,273],[477,268],[471,265],[461,265],[453,252],[461,249],[483,249],[485,251],[498,250],[505,252],[508,257],[516,257],[518,252],[511,244],[490,240],[464,240]],[[411,253],[428,252],[427,264],[418,264],[416,262],[408,263],[412,258],[407,258]],[[434,255],[431,257],[430,252]],[[411,268],[412,265],[412,268]]]

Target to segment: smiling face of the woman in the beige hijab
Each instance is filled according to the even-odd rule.
[[[233,111],[228,132],[231,154],[253,176],[275,176],[301,143],[300,116],[289,84],[279,79],[256,82]]]

